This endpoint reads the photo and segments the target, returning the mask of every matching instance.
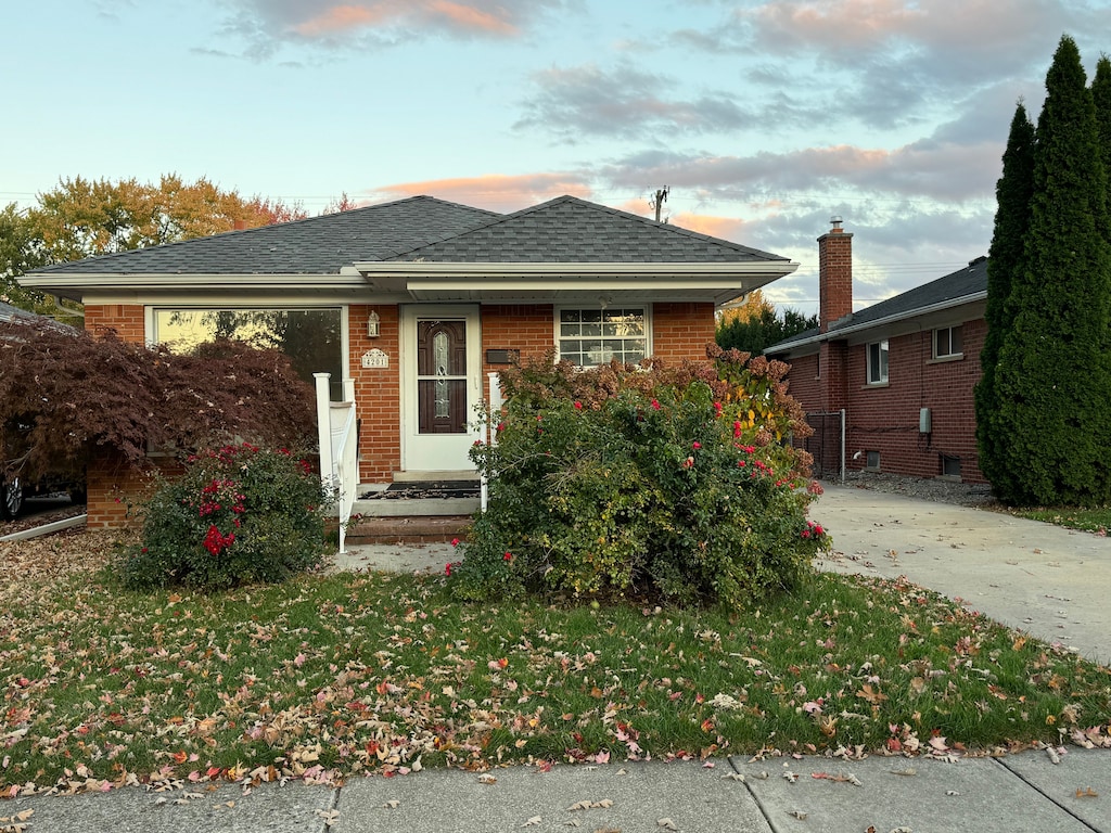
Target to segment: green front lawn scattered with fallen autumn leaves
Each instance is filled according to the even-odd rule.
[[[3,794],[1111,745],[1111,670],[905,582],[818,575],[759,608],[683,611],[468,605],[443,581],[303,576],[211,596],[128,592],[81,566],[12,581]]]

